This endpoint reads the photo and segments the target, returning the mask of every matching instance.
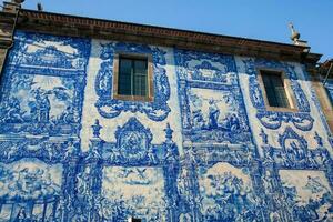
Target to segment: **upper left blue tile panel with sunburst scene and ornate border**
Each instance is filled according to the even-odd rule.
[[[0,133],[79,134],[90,41],[18,32],[1,85]]]

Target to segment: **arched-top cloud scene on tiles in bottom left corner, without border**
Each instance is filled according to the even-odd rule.
[[[62,165],[48,165],[36,159],[0,164],[2,221],[52,221],[61,195]]]

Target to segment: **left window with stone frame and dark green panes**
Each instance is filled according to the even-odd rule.
[[[113,98],[152,100],[152,64],[150,56],[117,54],[114,58]]]

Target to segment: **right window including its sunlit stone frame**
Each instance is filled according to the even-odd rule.
[[[283,72],[260,70],[260,78],[269,110],[294,110],[293,94]]]

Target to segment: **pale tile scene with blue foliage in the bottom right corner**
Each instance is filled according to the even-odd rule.
[[[331,221],[332,190],[321,171],[279,172],[292,215],[300,221]]]

